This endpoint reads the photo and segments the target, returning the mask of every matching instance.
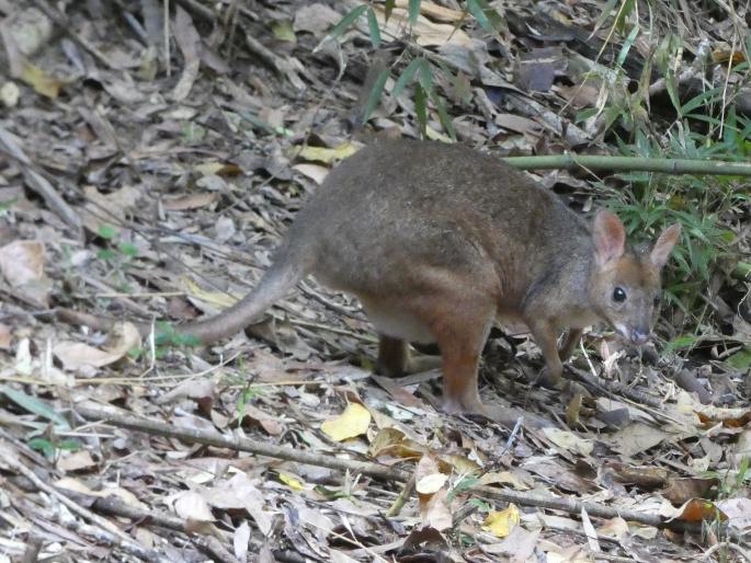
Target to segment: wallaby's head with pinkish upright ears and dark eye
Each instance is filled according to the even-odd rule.
[[[667,228],[651,248],[626,249],[626,230],[607,210],[594,218],[594,263],[589,295],[592,307],[633,344],[649,340],[660,306],[660,271],[681,235],[679,223]]]

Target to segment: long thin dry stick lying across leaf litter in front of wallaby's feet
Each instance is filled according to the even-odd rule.
[[[298,463],[307,463],[310,466],[335,469],[339,471],[363,473],[366,475],[385,479],[387,481],[399,481],[402,483],[407,483],[411,476],[411,473],[407,471],[387,468],[378,463],[340,459],[331,455],[318,456],[307,451],[293,449],[289,447],[264,444],[258,440],[252,440],[250,438],[229,437],[219,434],[215,430],[180,428],[148,418],[137,418],[135,416],[127,416],[121,414],[120,411],[115,411],[113,409],[77,405],[76,412],[87,420],[106,422],[121,428],[128,428],[133,430],[144,432],[146,434],[183,439],[191,443],[206,444],[209,446],[216,446],[220,448],[230,448],[240,451],[249,451],[251,453],[260,456],[268,456],[272,458],[284,459],[287,461],[296,461]],[[646,524],[648,526],[655,526],[657,528],[671,528],[691,532],[702,531],[702,526],[699,524],[683,521],[665,521],[660,516],[653,514],[644,514],[637,510],[622,510],[617,508],[611,508],[610,506],[585,503],[581,501],[574,501],[571,498],[555,498],[539,495],[530,495],[525,493],[516,493],[514,491],[509,490],[492,489],[490,486],[476,486],[473,487],[470,491],[473,493],[478,493],[486,497],[503,501],[507,503],[515,503],[524,506],[537,506],[542,508],[548,508],[550,510],[562,510],[573,515],[581,514],[581,510],[585,509],[590,515],[596,516],[599,518],[621,517],[625,520]]]

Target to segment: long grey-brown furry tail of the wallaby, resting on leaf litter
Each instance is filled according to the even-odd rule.
[[[205,321],[175,326],[181,335],[194,336],[203,344],[237,334],[252,324],[272,305],[286,295],[307,275],[306,268],[280,256],[258,285],[242,299]]]

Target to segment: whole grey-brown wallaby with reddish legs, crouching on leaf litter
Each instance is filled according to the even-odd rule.
[[[496,157],[376,142],[330,173],[244,299],[180,332],[204,342],[231,335],[312,275],[361,299],[382,337],[382,370],[405,371],[407,342],[435,342],[445,410],[477,412],[479,355],[497,318],[527,324],[550,382],[584,326],[605,321],[641,344],[679,235],[674,225],[651,250],[631,251],[613,214],[600,211],[590,227]]]

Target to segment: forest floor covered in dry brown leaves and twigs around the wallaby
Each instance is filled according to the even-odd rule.
[[[631,13],[639,34],[624,36],[604,2],[502,2],[500,22],[478,25],[457,2],[423,1],[408,37],[408,2],[387,23],[375,2],[374,49],[367,14],[322,42],[357,2],[0,0],[0,562],[751,561],[742,177],[721,180],[720,210],[670,197],[716,221],[735,258],[708,252],[705,280],[671,265],[671,287],[698,298],[671,299],[642,353],[595,328],[551,391],[530,384],[531,337],[491,333],[481,395],[508,425],[442,414],[439,371],[373,376],[360,305],[314,279],[212,346],[132,323],[228,307],[374,134],[424,125],[451,140],[441,104],[459,141],[499,158],[604,154],[617,133],[725,159],[671,117],[698,80],[699,96],[719,89],[712,135],[727,141],[714,127],[732,118],[748,147],[746,78],[724,66],[746,53],[743,14],[675,3]],[[680,49],[665,50],[669,32]],[[692,65],[707,46],[709,70]],[[353,128],[376,51],[394,78]],[[679,51],[672,79],[642,72]],[[417,57],[425,120],[412,83],[392,95]],[[639,89],[651,105],[624,102]],[[644,176],[533,176],[577,210],[631,202],[629,232],[659,232],[624,196]]]

